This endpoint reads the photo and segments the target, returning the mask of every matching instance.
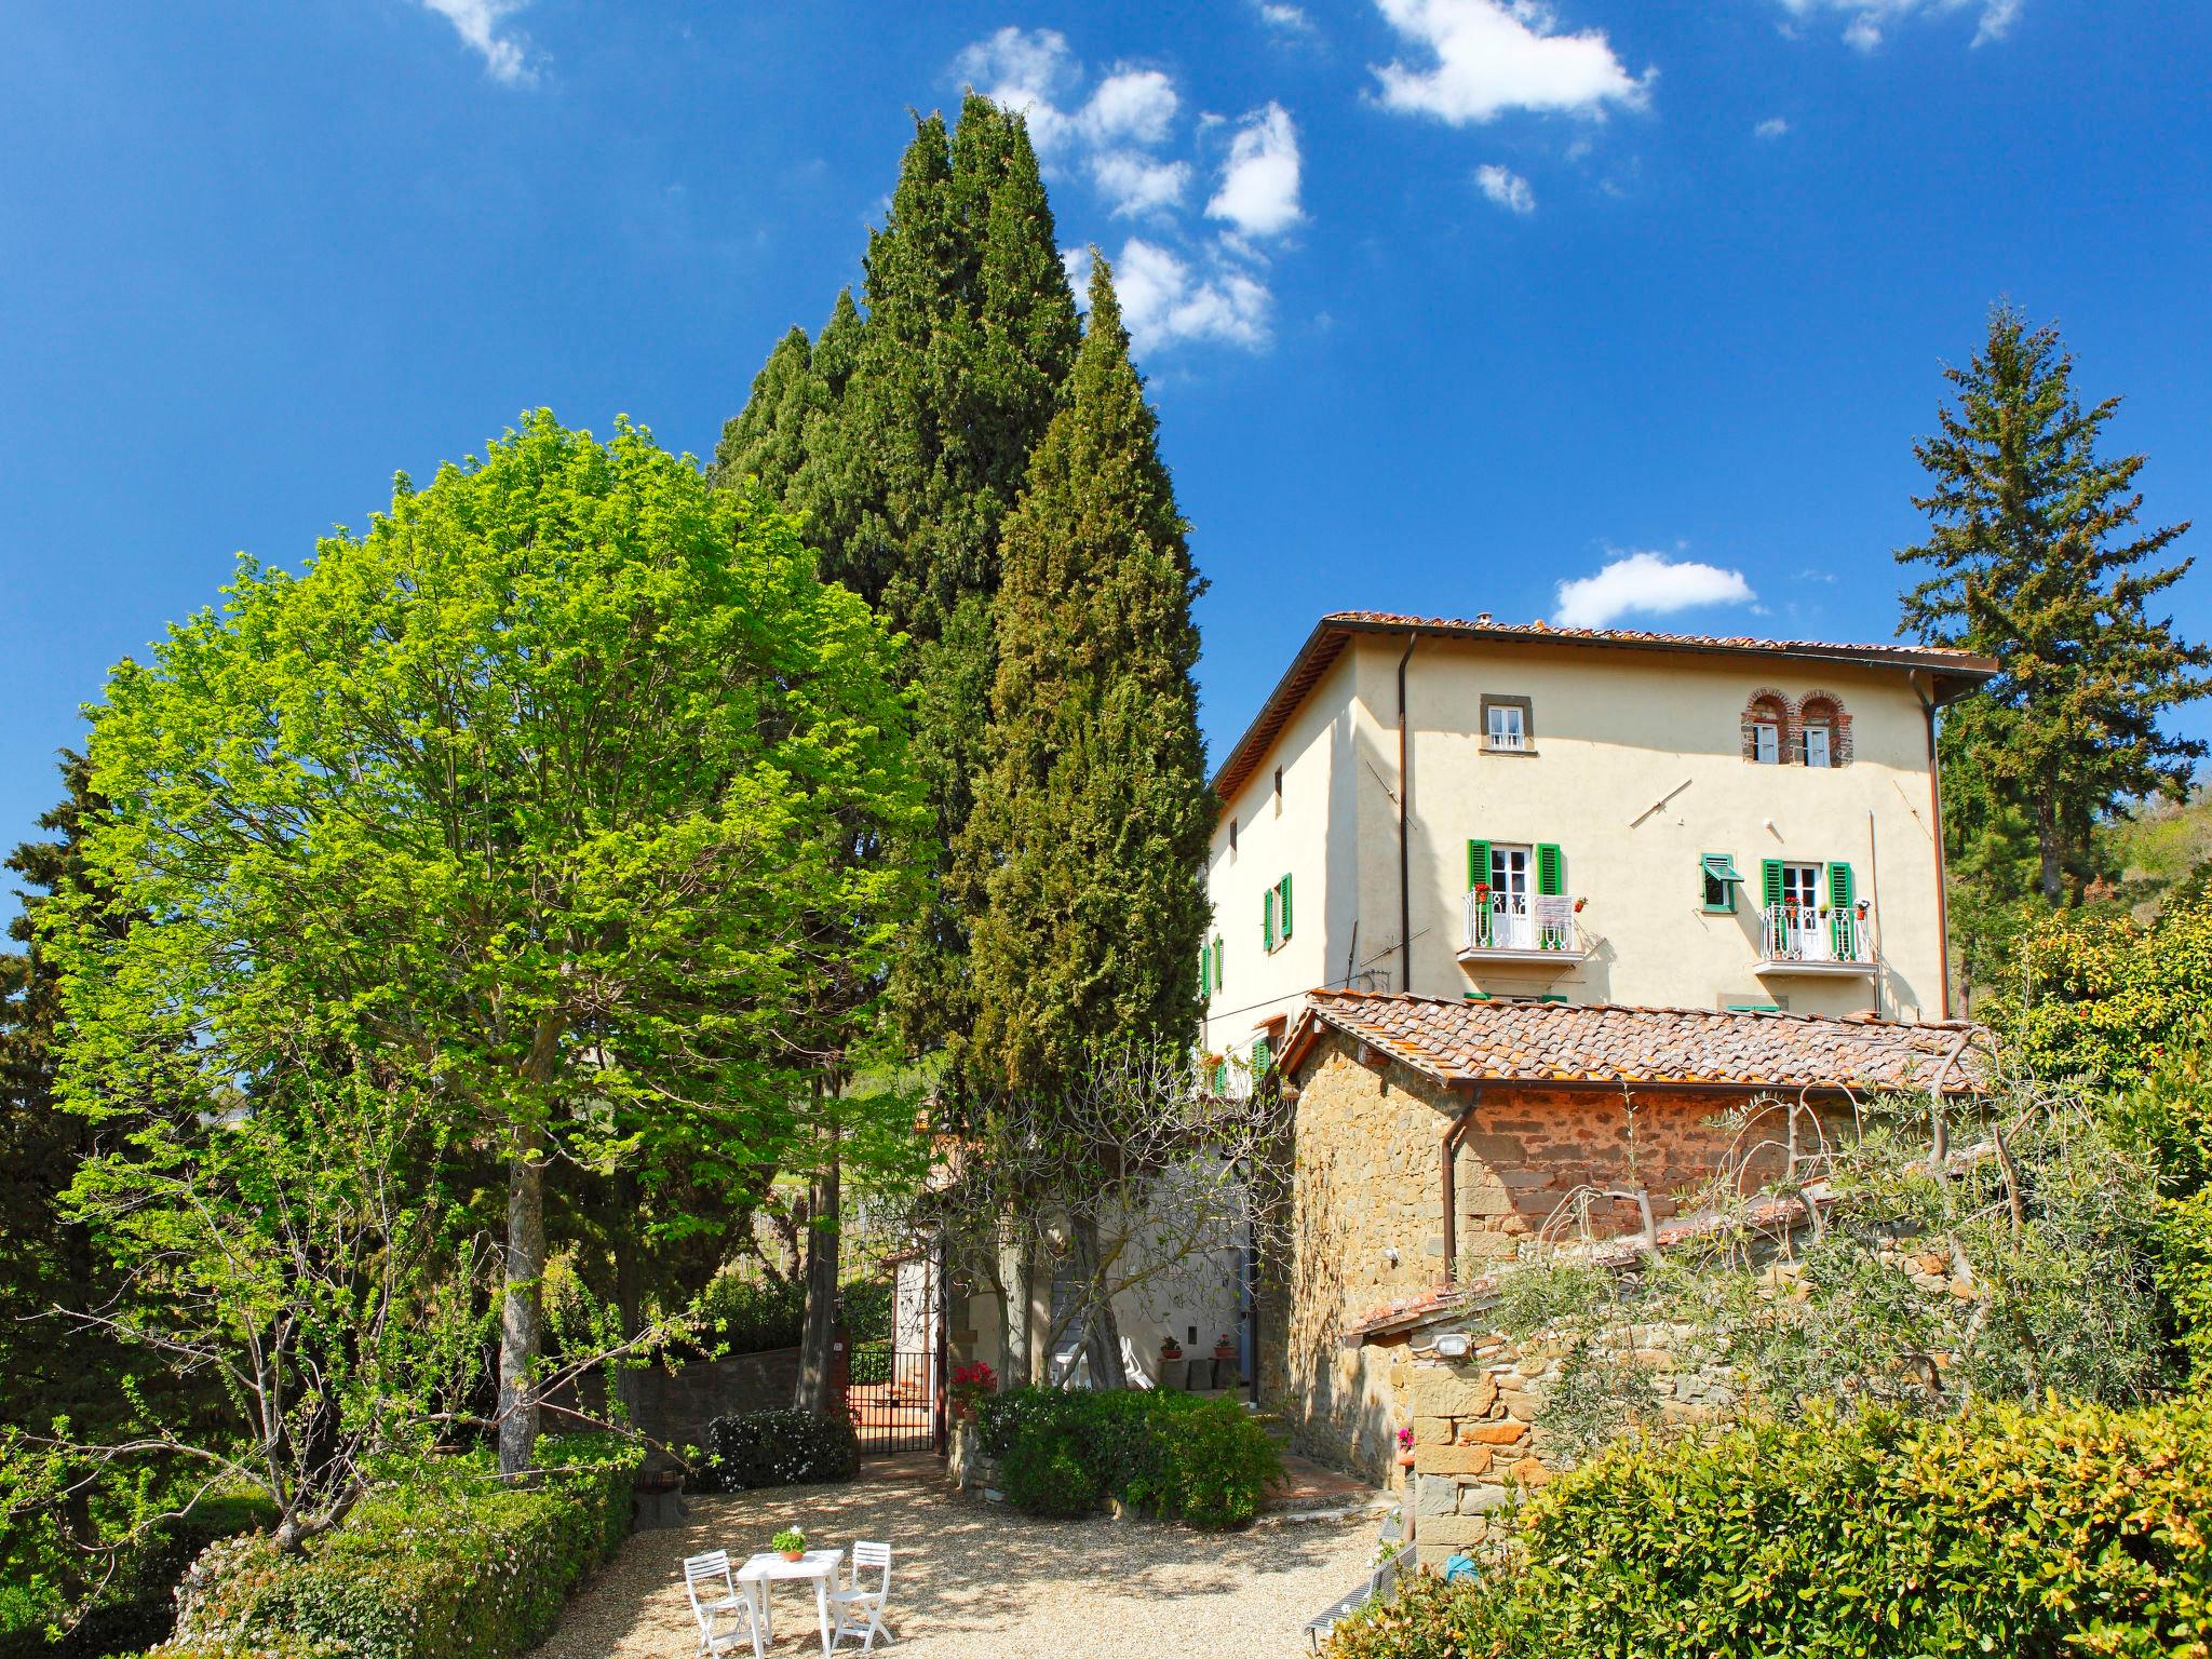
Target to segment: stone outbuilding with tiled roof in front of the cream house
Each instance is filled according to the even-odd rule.
[[[1790,1148],[1847,1135],[1867,1097],[1973,1095],[1975,1035],[1314,991],[1279,1060],[1294,1217],[1290,1259],[1261,1265],[1263,1398],[1298,1451],[1378,1480],[1400,1478],[1400,1429],[1427,1436],[1420,1469],[1451,1475],[1451,1513],[1471,1502],[1480,1520],[1515,1464],[1540,1467],[1531,1385],[1546,1356],[1469,1325],[1478,1281],[1546,1237],[1661,1248],[1699,1225],[1710,1183],[1763,1188]],[[1451,1321],[1473,1338],[1447,1360],[1420,1334]],[[1708,1383],[1686,1385],[1694,1407]]]

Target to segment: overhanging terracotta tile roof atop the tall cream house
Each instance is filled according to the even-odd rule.
[[[1305,701],[1305,695],[1343,655],[1356,633],[1442,635],[1455,639],[1493,639],[1502,644],[1584,644],[1621,650],[1683,650],[1699,655],[1794,657],[1801,661],[1840,661],[1863,668],[1924,670],[1933,681],[1938,703],[1953,701],[1997,672],[1991,657],[1940,646],[1851,646],[1829,639],[1754,639],[1750,635],[1648,633],[1644,628],[1553,628],[1544,622],[1489,622],[1475,617],[1407,617],[1394,611],[1332,611],[1298,646],[1283,679],[1261,703],[1252,726],[1214,772],[1214,794],[1228,803],[1245,785],[1283,726]]]

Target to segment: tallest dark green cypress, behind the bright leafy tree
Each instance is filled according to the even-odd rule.
[[[776,345],[717,476],[757,476],[821,575],[916,641],[916,765],[951,845],[987,759],[1000,524],[1079,336],[1024,119],[975,93],[958,128],[920,117],[863,265],[865,319],[841,296],[810,354],[796,330]],[[969,1018],[969,920],[940,900],[909,929],[896,1000],[916,1048]]]

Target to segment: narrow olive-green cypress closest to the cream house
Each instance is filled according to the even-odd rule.
[[[975,916],[975,1018],[958,1060],[984,1091],[1048,1102],[1108,1053],[1179,1057],[1197,1031],[1188,969],[1214,805],[1192,681],[1201,582],[1157,436],[1095,257],[1068,405],[1000,546],[991,763],[953,867]],[[1097,1214],[1077,1208],[1071,1232],[1082,1272]],[[1093,1380],[1113,1387],[1108,1296],[1086,1338]]]

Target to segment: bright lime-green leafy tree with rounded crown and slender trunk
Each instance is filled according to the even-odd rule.
[[[878,975],[916,902],[894,679],[787,518],[628,422],[540,411],[400,478],[367,533],[301,575],[243,562],[111,679],[84,856],[113,898],[51,933],[64,1093],[95,1119],[325,1075],[434,1102],[504,1166],[518,1471],[549,1161],[772,1161],[816,987]],[[115,909],[150,920],[117,938]]]

